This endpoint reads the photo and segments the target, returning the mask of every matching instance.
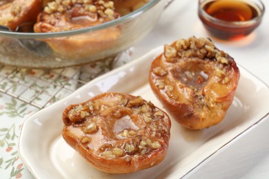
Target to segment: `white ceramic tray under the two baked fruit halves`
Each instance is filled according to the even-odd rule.
[[[70,96],[28,118],[21,130],[19,154],[36,178],[183,178],[268,116],[269,87],[239,67],[241,78],[226,118],[209,129],[190,131],[172,120],[168,154],[159,165],[131,174],[115,175],[93,169],[61,137],[65,107],[103,92],[141,95],[158,107],[148,85],[151,61],[163,48],[108,72],[77,89]]]

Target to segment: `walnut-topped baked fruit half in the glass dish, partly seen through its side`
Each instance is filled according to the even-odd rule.
[[[112,1],[52,1],[37,17],[34,32],[61,32],[99,25],[120,17]],[[75,36],[46,39],[50,48],[62,56],[83,59],[111,47],[119,38],[117,26]]]

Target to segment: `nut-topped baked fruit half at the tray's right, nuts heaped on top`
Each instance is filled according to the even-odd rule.
[[[164,46],[152,62],[149,83],[183,127],[203,129],[223,120],[232,104],[239,69],[210,39],[195,36]]]

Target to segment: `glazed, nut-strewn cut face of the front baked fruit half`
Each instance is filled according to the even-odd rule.
[[[122,109],[119,114],[117,110],[114,111],[117,109],[115,106]],[[130,113],[124,107],[130,107],[134,112]],[[164,115],[141,97],[126,101],[124,96],[108,95],[70,109],[68,113],[70,120],[73,123],[83,120],[83,125],[70,125],[67,129],[72,136],[88,149],[96,151],[99,156],[124,158],[126,161],[135,162],[139,156],[149,154],[163,145],[164,141],[160,137],[164,135],[166,138],[166,134],[169,134],[169,129],[165,125],[168,118]],[[159,120],[160,118],[164,118],[164,121]],[[90,132],[85,131],[88,123],[96,125],[96,127],[90,126],[90,129],[94,127]],[[131,159],[128,156],[135,158]]]

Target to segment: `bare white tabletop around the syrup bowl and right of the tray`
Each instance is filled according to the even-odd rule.
[[[263,3],[266,13],[259,28],[244,39],[227,42],[212,38],[203,28],[197,14],[198,0],[175,0],[163,12],[155,30],[134,46],[133,58],[179,38],[210,36],[217,47],[269,85],[269,1]],[[189,178],[269,178],[269,120],[243,135]]]

